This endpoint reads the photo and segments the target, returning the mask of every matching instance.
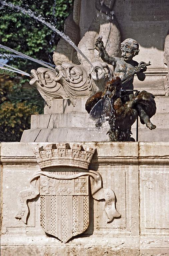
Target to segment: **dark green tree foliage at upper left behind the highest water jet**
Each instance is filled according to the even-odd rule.
[[[64,20],[72,12],[73,0],[12,0],[15,5],[21,5],[25,9],[30,9],[42,15],[49,23],[54,23],[56,28],[64,30]],[[7,1],[9,2],[9,1]],[[1,44],[23,52],[33,58],[49,61],[49,54],[52,55],[59,37],[54,36],[54,44],[50,45],[53,31],[41,22],[36,21],[29,15],[17,12],[7,6],[1,7],[0,11],[0,41]],[[53,10],[54,8],[54,10]],[[53,13],[54,16],[53,17]],[[1,52],[4,50],[1,50]],[[23,68],[25,60],[18,59],[17,65]],[[34,63],[27,63],[28,66]],[[28,69],[28,68],[27,68]]]

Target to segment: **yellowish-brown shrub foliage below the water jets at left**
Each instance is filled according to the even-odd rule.
[[[38,104],[29,101],[28,89],[18,88],[11,80],[2,78],[0,83],[1,141],[20,141],[23,131],[30,128],[31,114],[38,114]]]

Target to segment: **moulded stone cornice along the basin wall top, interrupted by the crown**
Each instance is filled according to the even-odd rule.
[[[1,143],[2,165],[38,165],[32,151],[35,146],[49,143]],[[107,142],[82,143],[87,147],[96,148],[91,164],[96,165],[148,165],[169,163],[167,142]],[[27,154],[27,156],[26,156]]]

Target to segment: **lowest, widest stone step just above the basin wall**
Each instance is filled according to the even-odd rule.
[[[21,142],[107,142],[106,135],[108,129],[101,128],[48,128],[25,130],[22,134]],[[132,129],[133,138],[136,139],[136,129]],[[169,141],[168,129],[139,129],[139,141],[155,142]]]

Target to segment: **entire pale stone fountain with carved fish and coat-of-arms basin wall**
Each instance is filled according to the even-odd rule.
[[[30,85],[45,100],[44,114],[32,115],[21,142],[1,143],[2,255],[168,255],[167,5],[74,1],[64,32],[88,61],[60,39],[56,69],[31,71]],[[107,59],[121,61],[126,38],[140,44],[134,73],[127,74],[129,87]],[[145,62],[138,69],[140,58]],[[112,80],[115,73],[118,81]],[[131,84],[141,92],[134,95]],[[122,109],[128,104],[133,120],[139,115],[152,128],[138,122],[139,142],[109,142],[107,131],[115,140],[120,128],[117,124],[115,131],[117,120],[112,122],[114,114],[104,107],[109,120],[99,130],[90,118],[98,121],[91,111],[99,101],[114,108],[121,96]],[[141,116],[142,106],[138,110],[136,103],[145,98],[151,103],[148,118],[156,111],[151,119],[156,129]],[[136,123],[128,129],[136,139]]]

